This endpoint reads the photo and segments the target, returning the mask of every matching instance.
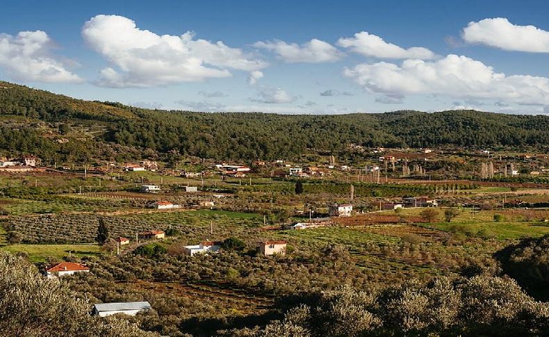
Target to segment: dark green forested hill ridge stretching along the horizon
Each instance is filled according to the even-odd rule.
[[[104,132],[95,134],[96,142],[161,153],[177,150],[203,158],[291,158],[307,149],[338,151],[349,143],[368,147],[549,145],[549,116],[543,115],[474,110],[349,115],[195,113],[83,101],[1,81],[0,117],[0,150],[35,149],[32,152],[44,156],[76,150],[43,140],[34,127],[38,121],[49,126],[99,125]],[[9,125],[14,120],[17,129]]]

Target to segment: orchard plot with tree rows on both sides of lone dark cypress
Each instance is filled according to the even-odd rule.
[[[222,239],[226,236],[256,238],[262,222],[258,215],[222,211],[170,211],[124,215],[97,213],[48,214],[12,217],[10,229],[22,235],[24,243],[92,243],[99,219],[108,224],[110,236],[134,238],[136,233],[151,229],[177,231],[188,240]],[[247,229],[254,229],[249,231]],[[213,234],[211,234],[213,229]]]

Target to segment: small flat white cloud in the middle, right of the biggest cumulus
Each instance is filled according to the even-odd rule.
[[[331,44],[312,39],[302,45],[274,40],[254,43],[254,47],[274,51],[281,60],[288,63],[322,63],[339,60],[343,53]]]

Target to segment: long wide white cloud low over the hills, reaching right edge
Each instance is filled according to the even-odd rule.
[[[441,60],[404,60],[402,65],[379,62],[345,69],[370,92],[378,94],[443,94],[466,99],[496,99],[516,104],[549,104],[549,79],[496,73],[466,56]]]

